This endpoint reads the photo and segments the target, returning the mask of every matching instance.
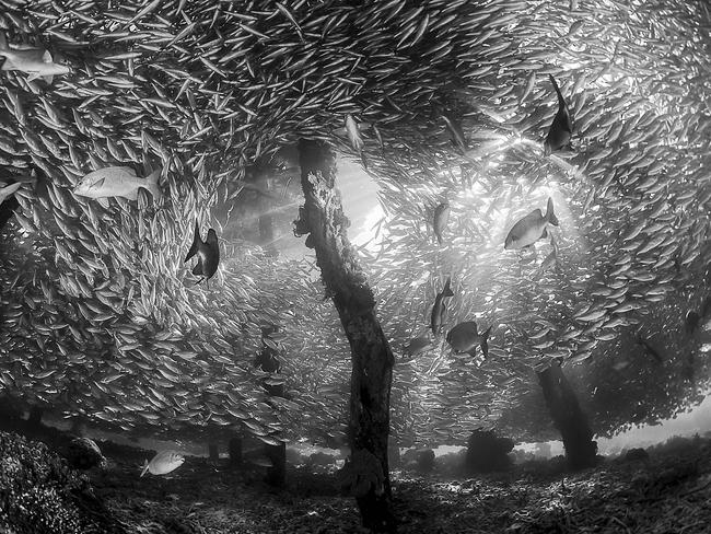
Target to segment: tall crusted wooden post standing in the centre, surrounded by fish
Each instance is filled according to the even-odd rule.
[[[351,347],[350,490],[363,525],[395,532],[387,463],[393,352],[375,317],[375,299],[348,241],[348,219],[335,187],[336,160],[327,143],[299,143],[305,204],[294,221],[306,235],[328,294],[333,298]]]

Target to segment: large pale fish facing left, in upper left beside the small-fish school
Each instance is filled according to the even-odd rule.
[[[74,195],[96,198],[104,208],[107,208],[109,197],[136,200],[138,189],[142,187],[151,193],[153,200],[159,200],[162,197],[160,176],[160,169],[153,171],[147,178],[139,178],[131,167],[104,167],[86,174],[74,187]]]

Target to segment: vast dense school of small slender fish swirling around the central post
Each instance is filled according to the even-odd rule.
[[[708,54],[671,44],[708,33],[700,3],[0,5],[0,195],[20,202],[0,386],[30,404],[142,434],[343,439],[349,349],[315,267],[219,243],[211,217],[300,137],[377,177],[386,214],[360,254],[409,355],[403,443],[462,443],[525,409],[534,369],[614,358],[630,329],[649,355],[703,329],[665,351],[637,332],[684,333],[711,285]],[[283,326],[278,373],[250,364],[265,324]]]

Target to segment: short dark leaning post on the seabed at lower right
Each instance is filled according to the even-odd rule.
[[[575,392],[562,369],[553,363],[538,373],[538,381],[553,423],[563,440],[568,464],[573,469],[593,467],[596,463],[597,442],[593,441],[587,417],[580,408]]]

